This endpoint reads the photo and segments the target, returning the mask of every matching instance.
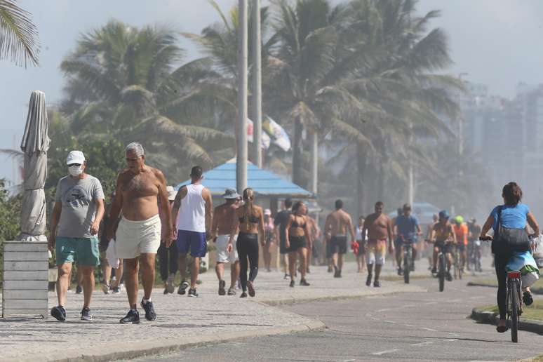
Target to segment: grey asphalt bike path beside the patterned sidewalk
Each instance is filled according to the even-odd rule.
[[[428,293],[401,293],[283,307],[320,319],[322,331],[260,337],[150,356],[140,361],[514,361],[543,353],[543,339],[519,332],[499,334],[494,326],[467,318],[471,309],[495,301],[494,288],[415,280]]]

